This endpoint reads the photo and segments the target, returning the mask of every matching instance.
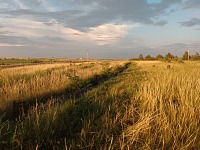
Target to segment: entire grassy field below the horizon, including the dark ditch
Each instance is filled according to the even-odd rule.
[[[101,60],[1,69],[0,149],[199,149],[199,68]],[[14,101],[28,112],[13,117]]]

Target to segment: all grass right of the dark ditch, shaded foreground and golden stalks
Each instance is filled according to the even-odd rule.
[[[131,64],[117,77],[79,99],[62,105],[50,101],[40,109],[36,105],[28,116],[14,124],[0,119],[0,146],[72,150],[199,149],[199,62],[170,63],[170,69],[167,65],[139,62],[140,71]]]

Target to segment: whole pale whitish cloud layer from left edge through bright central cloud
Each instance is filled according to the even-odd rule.
[[[60,46],[75,43],[93,45],[113,45],[128,34],[128,31],[139,24],[104,24],[79,31],[65,27],[55,20],[49,23],[25,18],[4,18],[0,29],[0,40],[4,43],[24,45],[54,45]]]

